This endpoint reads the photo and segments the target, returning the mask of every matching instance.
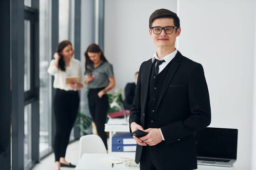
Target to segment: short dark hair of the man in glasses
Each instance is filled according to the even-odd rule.
[[[176,13],[168,10],[168,9],[158,9],[156,11],[154,11],[151,16],[149,17],[149,28],[151,29],[152,27],[152,23],[155,19],[157,18],[164,18],[164,17],[167,17],[167,18],[173,18],[174,20],[174,25],[179,28],[180,25],[179,25],[179,18],[177,16]]]

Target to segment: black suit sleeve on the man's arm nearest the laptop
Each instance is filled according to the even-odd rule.
[[[192,135],[211,123],[209,92],[200,64],[196,65],[188,78],[188,100],[190,116],[161,127],[167,143]]]

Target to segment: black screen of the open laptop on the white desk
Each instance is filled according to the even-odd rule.
[[[207,127],[196,133],[198,157],[236,159],[237,129]]]

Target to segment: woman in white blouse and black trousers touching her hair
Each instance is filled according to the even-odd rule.
[[[60,170],[60,167],[76,167],[65,160],[70,132],[79,109],[78,90],[83,87],[81,63],[74,59],[73,55],[70,41],[61,41],[48,68],[48,73],[54,75],[53,86],[56,88],[53,102],[56,123],[53,144],[56,170]],[[68,82],[67,78],[71,81]]]

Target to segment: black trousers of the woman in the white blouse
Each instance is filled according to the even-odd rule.
[[[79,102],[78,91],[56,89],[53,102],[56,125],[53,144],[55,161],[59,161],[60,157],[65,157],[70,132],[78,115]]]

